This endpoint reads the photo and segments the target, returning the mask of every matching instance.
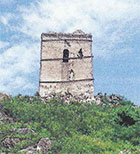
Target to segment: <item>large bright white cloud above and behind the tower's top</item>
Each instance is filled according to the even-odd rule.
[[[140,19],[140,2],[132,0],[40,0],[19,10],[23,23],[18,29],[32,39],[39,40],[42,32],[82,29],[93,34],[93,52],[102,57],[140,26],[134,22]]]

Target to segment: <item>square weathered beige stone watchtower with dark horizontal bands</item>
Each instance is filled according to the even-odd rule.
[[[42,33],[39,94],[93,99],[92,35]]]

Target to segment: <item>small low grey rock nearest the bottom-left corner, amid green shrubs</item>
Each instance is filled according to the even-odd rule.
[[[19,138],[6,138],[4,141],[2,141],[2,144],[5,148],[13,148],[16,143],[19,143]]]

